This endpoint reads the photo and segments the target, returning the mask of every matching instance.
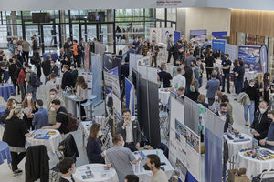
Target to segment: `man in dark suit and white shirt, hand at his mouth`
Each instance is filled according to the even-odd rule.
[[[128,147],[132,152],[140,147],[141,129],[137,120],[132,120],[130,109],[122,111],[123,120],[118,123],[116,133],[125,138],[124,147]]]

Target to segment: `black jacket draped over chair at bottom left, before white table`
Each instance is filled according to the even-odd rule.
[[[49,157],[47,148],[44,145],[31,146],[26,149],[26,182],[34,182],[40,179],[41,182],[49,181]]]

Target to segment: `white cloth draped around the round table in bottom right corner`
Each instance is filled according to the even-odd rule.
[[[267,148],[260,148],[260,152],[262,150],[267,150],[274,154],[274,151],[269,150]],[[252,177],[258,176],[262,173],[263,170],[267,169],[273,169],[274,168],[274,158],[266,159],[266,160],[258,160],[257,158],[247,157],[244,156],[245,152],[238,152],[239,157],[239,167],[244,167],[247,169],[246,175],[249,179]]]

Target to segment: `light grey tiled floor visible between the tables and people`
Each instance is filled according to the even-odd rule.
[[[171,70],[172,66],[169,64],[168,65],[168,69]],[[44,78],[44,76],[42,76]],[[43,93],[44,89],[43,86],[41,86],[40,88],[38,88],[37,90],[37,98],[45,99],[45,94]],[[204,79],[204,86],[200,89],[200,92],[205,94],[205,79]],[[233,106],[233,117],[234,117],[234,128],[236,128],[237,130],[239,130],[242,133],[246,133],[249,134],[248,132],[248,127],[244,126],[244,116],[243,116],[243,106],[240,106],[239,103],[237,103],[237,101],[234,101],[234,96],[232,94],[229,94],[229,99],[230,99],[230,103]],[[20,96],[16,96],[16,98],[18,100],[20,100]],[[104,104],[101,104],[100,106],[98,106],[95,109],[95,116],[101,116],[104,112]],[[76,143],[79,149],[79,158],[77,160],[77,167],[87,164],[88,163],[88,159],[87,159],[87,155],[86,155],[86,149],[84,147],[82,147],[82,137],[81,137],[81,131],[77,131],[73,133],[73,136],[76,139]],[[162,139],[163,142],[166,142],[164,136],[162,135]],[[202,157],[202,162],[204,161],[204,158]],[[203,163],[202,163],[203,164]],[[19,164],[19,167],[21,169],[25,168],[25,159]],[[202,166],[202,170],[204,169],[204,165]],[[1,180],[0,181],[6,181],[6,182],[22,182],[25,181],[25,173],[23,172],[22,175],[16,176],[14,177],[11,170],[9,169],[9,167],[7,166],[6,163],[0,165],[0,177]],[[202,177],[203,178],[203,177]]]

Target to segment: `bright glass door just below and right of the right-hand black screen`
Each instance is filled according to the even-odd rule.
[[[114,24],[98,24],[99,40],[106,45],[106,51],[115,52]]]

